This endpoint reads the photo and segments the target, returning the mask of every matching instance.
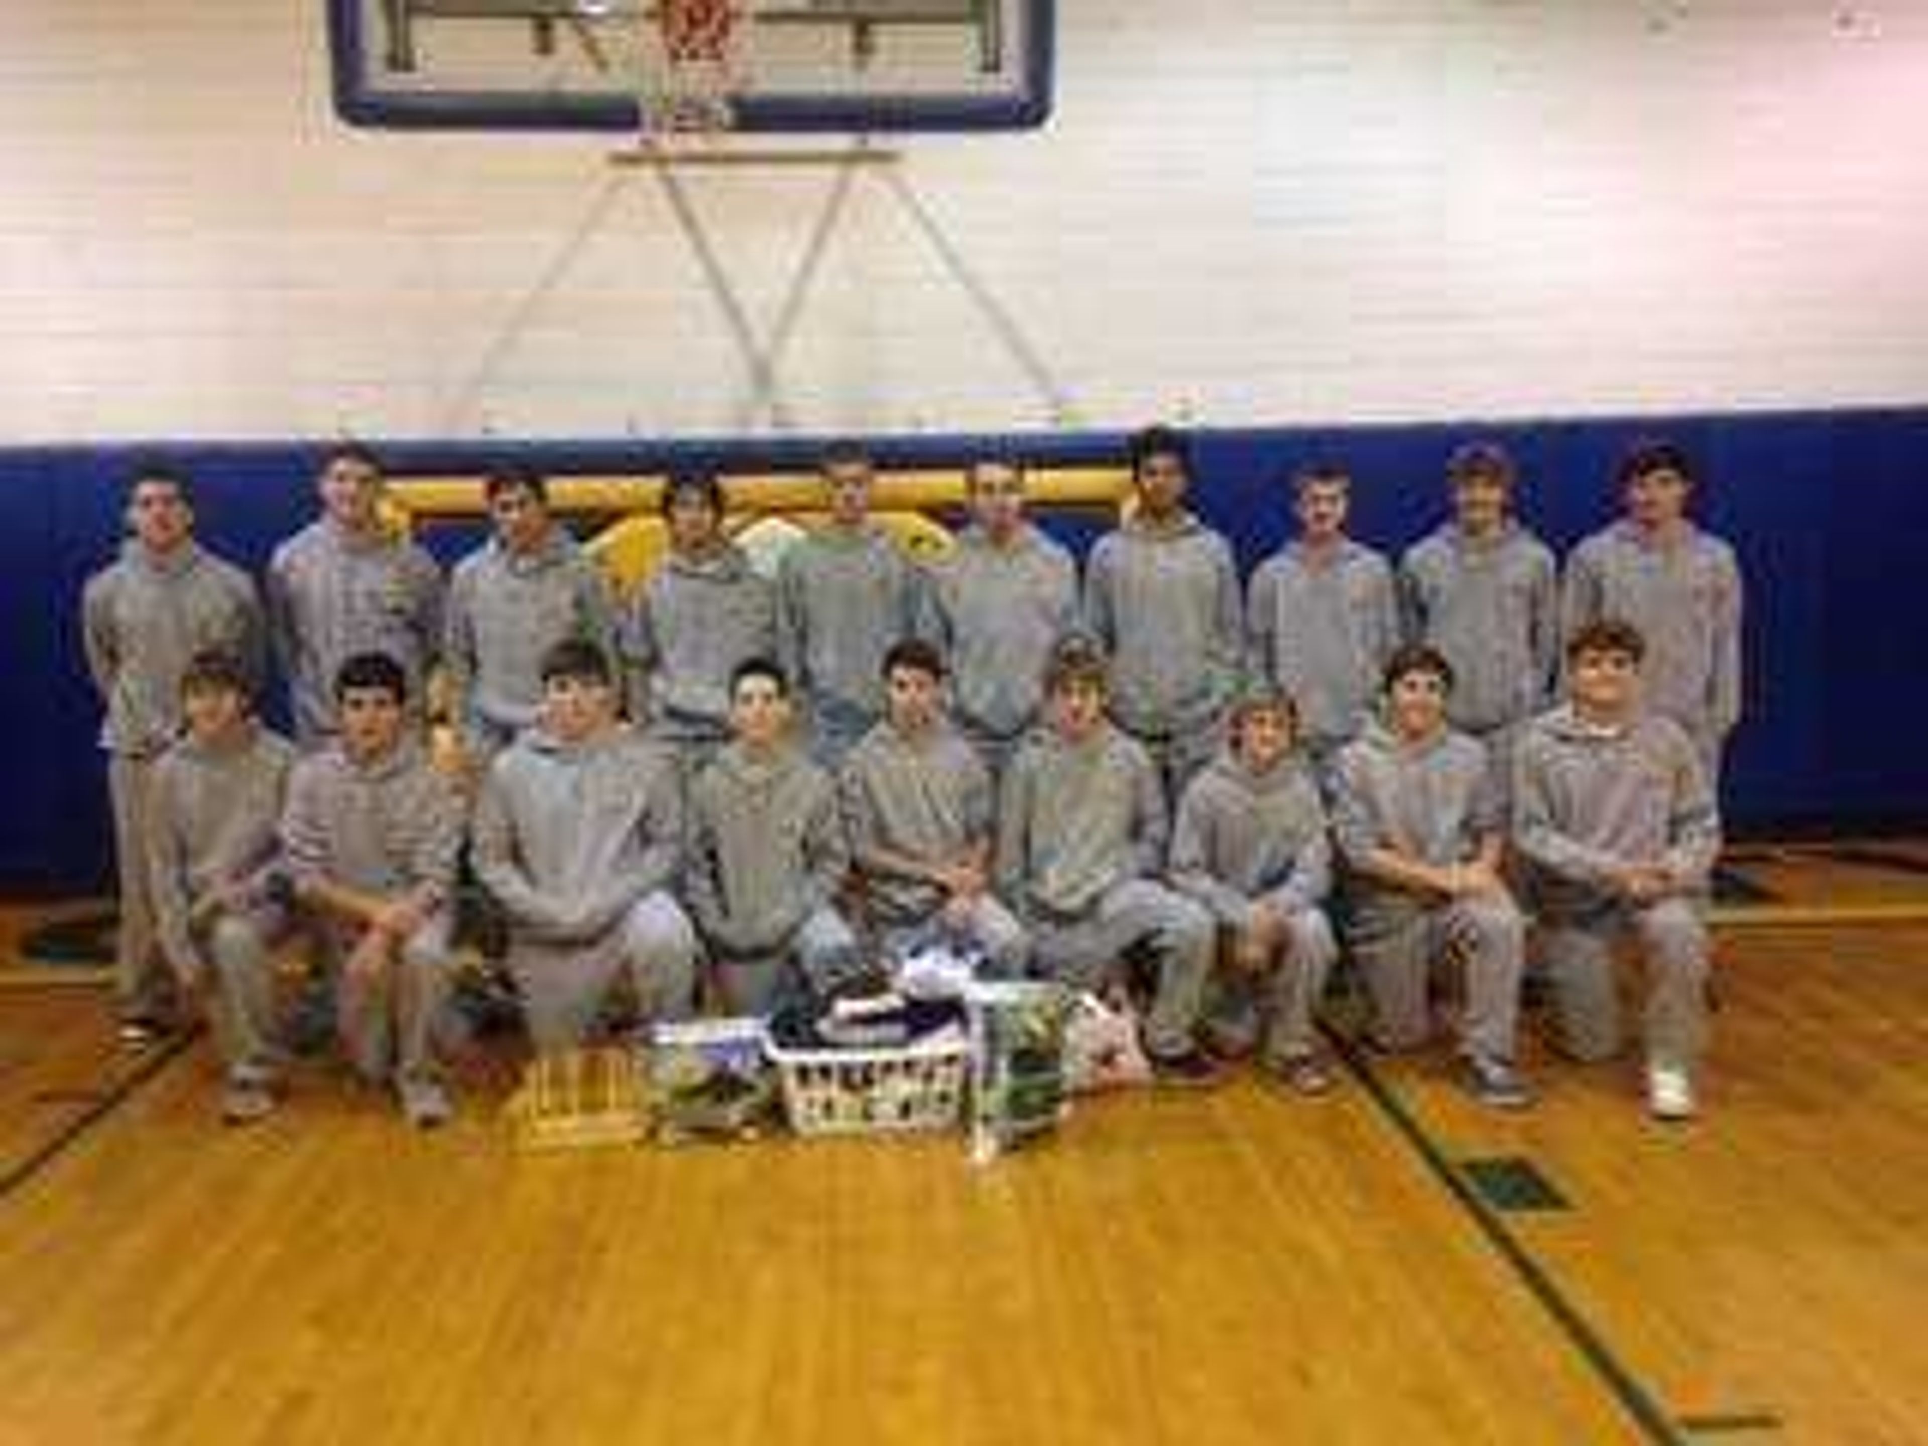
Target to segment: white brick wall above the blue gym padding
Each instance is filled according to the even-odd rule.
[[[1082,422],[1928,397],[1928,6],[1060,12],[1051,129],[908,175]],[[314,0],[6,0],[0,148],[0,442],[736,430],[648,179],[536,295],[605,141],[347,131]],[[825,183],[692,179],[765,320]],[[808,430],[1047,420],[873,181],[785,376]]]

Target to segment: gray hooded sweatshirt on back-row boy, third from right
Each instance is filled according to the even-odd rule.
[[[1355,736],[1400,646],[1386,559],[1352,538],[1325,561],[1288,542],[1251,575],[1245,619],[1251,667],[1292,694],[1305,738]]]

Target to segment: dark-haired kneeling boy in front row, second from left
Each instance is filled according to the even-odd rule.
[[[351,1062],[430,1128],[451,1114],[432,1041],[449,989],[461,804],[407,710],[409,675],[393,657],[341,663],[341,731],[295,765],[281,850],[295,900],[339,958],[335,1018]]]

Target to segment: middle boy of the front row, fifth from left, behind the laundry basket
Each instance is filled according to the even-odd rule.
[[[885,949],[954,939],[1001,977],[1024,974],[1024,929],[991,897],[991,773],[943,710],[937,650],[906,638],[883,659],[885,719],[839,779],[844,825]]]

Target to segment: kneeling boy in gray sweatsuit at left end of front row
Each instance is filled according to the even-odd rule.
[[[287,925],[276,829],[295,750],[254,719],[251,688],[231,656],[195,654],[187,729],[154,765],[147,819],[160,951],[179,989],[206,1001],[229,1124],[274,1111],[283,1062],[270,951]]]

